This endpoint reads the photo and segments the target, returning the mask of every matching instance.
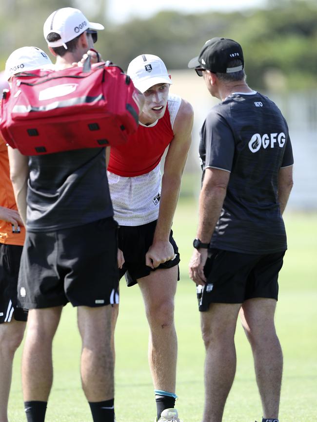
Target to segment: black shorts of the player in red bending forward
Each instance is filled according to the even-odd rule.
[[[159,264],[158,268],[155,269],[145,265],[145,254],[153,243],[156,224],[157,220],[140,226],[119,227],[119,248],[123,252],[125,260],[122,269],[119,269],[119,279],[125,275],[129,287],[137,284],[138,278],[150,275],[151,271],[172,268],[179,264],[178,247],[173,239],[173,231],[171,230],[169,240],[174,248],[176,257],[173,260]]]

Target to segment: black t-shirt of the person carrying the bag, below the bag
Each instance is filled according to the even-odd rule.
[[[53,231],[113,216],[105,148],[29,157],[27,230]]]

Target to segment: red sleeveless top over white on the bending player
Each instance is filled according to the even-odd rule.
[[[153,170],[174,138],[168,106],[155,126],[139,125],[124,145],[111,147],[108,171],[134,177]]]

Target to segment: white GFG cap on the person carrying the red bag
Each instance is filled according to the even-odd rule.
[[[63,46],[67,50],[66,42],[78,37],[87,29],[97,31],[104,29],[104,26],[100,23],[89,22],[79,9],[63,7],[53,12],[46,19],[43,26],[43,33],[49,47]],[[59,34],[60,39],[51,42],[47,41],[47,36],[52,32]]]

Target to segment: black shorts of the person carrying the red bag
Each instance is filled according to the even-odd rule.
[[[51,308],[118,303],[118,224],[113,218],[47,233],[27,232],[18,302]]]

